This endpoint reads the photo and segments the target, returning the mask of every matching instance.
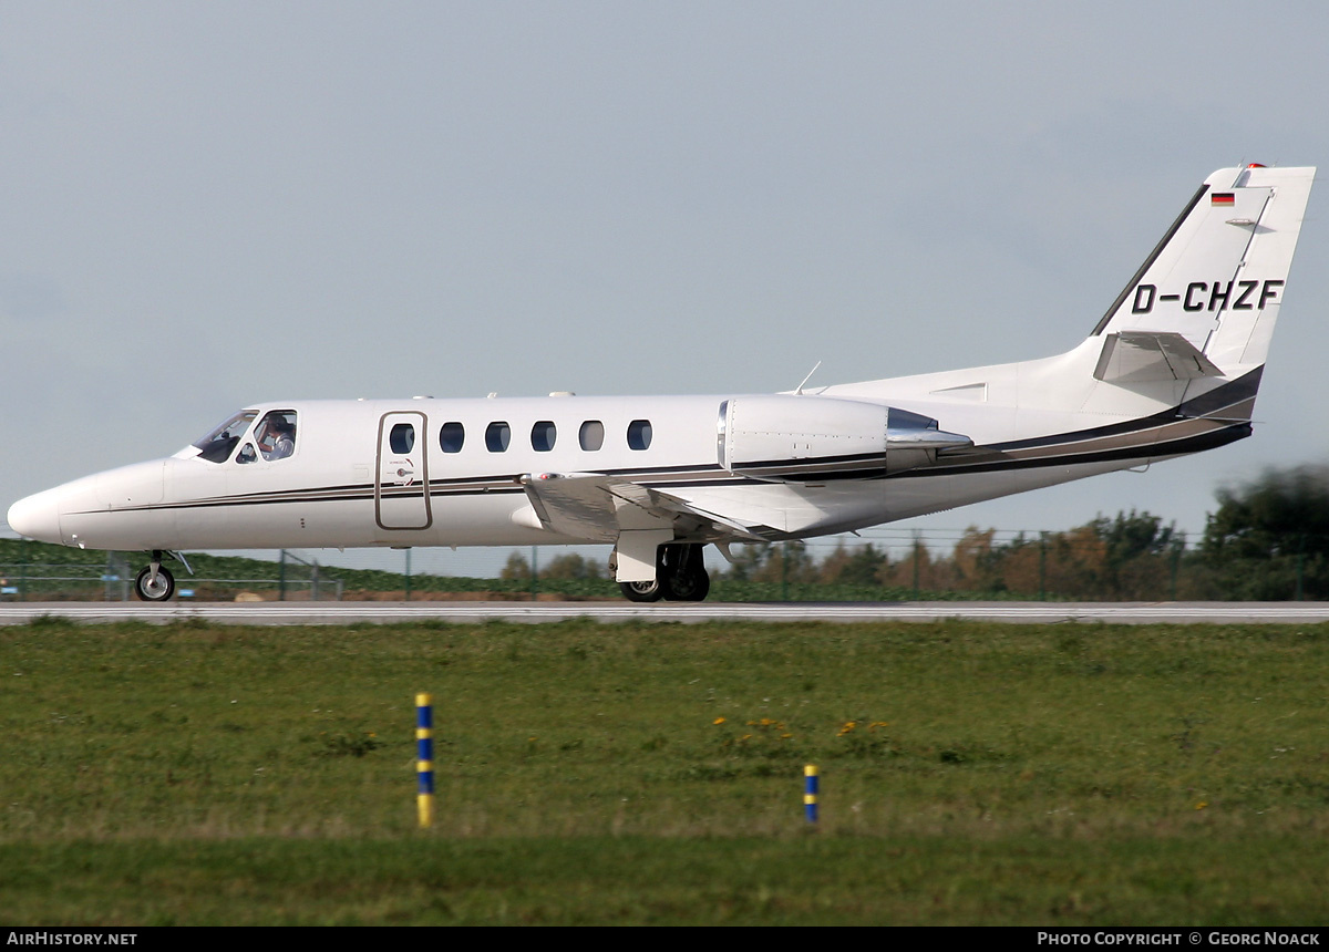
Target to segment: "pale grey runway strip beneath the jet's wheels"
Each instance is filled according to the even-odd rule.
[[[661,603],[627,601],[27,601],[0,604],[0,625],[43,616],[73,621],[154,621],[201,619],[217,624],[343,625],[400,621],[480,623],[562,621],[1010,621],[1013,624],[1316,624],[1329,621],[1326,601],[888,601],[888,603]]]

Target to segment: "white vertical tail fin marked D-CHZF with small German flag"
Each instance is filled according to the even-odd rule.
[[[1158,352],[1155,365],[1174,372],[1187,362],[1189,377],[1263,365],[1314,173],[1252,165],[1209,175],[1094,328],[1110,339],[1099,374],[1116,344]]]

